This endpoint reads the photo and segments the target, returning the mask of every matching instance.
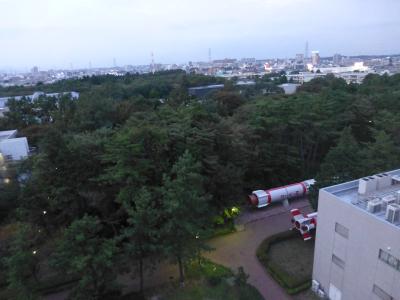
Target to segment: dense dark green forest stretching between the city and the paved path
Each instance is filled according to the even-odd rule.
[[[398,168],[400,75],[361,85],[328,75],[294,95],[277,88],[284,80],[242,87],[174,71],[0,88],[80,93],[10,100],[0,119],[35,148],[0,186],[9,290],[34,299],[48,270],[77,278],[74,299],[101,299],[121,260],[142,278],[149,257],[175,261],[183,282],[185,263],[250,191],[315,178],[317,208],[319,187]],[[188,94],[214,83],[225,88]]]

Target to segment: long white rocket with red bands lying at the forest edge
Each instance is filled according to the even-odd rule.
[[[314,183],[314,179],[309,179],[269,190],[253,191],[249,195],[249,203],[252,206],[260,208],[273,202],[282,202],[292,198],[303,197],[308,194],[310,186]]]

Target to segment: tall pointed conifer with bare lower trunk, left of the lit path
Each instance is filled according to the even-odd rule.
[[[209,197],[199,170],[200,164],[186,151],[172,167],[171,174],[164,176],[161,191],[165,213],[164,247],[178,262],[182,283],[184,262],[206,248],[202,234],[209,221]]]

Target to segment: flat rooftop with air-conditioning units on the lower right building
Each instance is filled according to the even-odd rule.
[[[322,190],[400,230],[400,169]]]

